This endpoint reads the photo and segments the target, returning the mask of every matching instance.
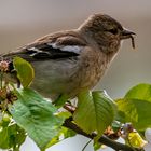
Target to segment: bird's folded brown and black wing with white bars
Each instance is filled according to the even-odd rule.
[[[52,35],[41,38],[8,56],[20,56],[28,61],[77,57],[86,42],[74,35]]]

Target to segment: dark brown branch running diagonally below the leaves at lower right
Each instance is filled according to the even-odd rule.
[[[69,118],[67,120],[65,120],[65,123],[63,124],[63,126],[74,131],[76,133],[83,135],[85,137],[88,137],[91,139],[93,139],[96,134],[86,134],[85,132],[83,132],[78,125],[76,125],[74,123],[72,123],[72,118]],[[116,142],[112,139],[109,139],[107,136],[102,135],[99,140],[100,143],[106,145],[112,149],[114,149],[115,151],[143,151],[143,149],[134,149],[127,145],[123,145],[120,142]]]

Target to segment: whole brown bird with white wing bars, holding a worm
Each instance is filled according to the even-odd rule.
[[[14,81],[17,77],[13,58],[19,56],[35,69],[30,87],[52,100],[63,94],[73,98],[100,81],[118,54],[121,41],[132,39],[135,46],[134,35],[111,16],[96,13],[77,29],[46,35],[0,57],[9,60],[8,77]]]

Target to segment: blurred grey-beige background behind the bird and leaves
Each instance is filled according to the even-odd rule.
[[[0,0],[0,52],[9,52],[57,30],[77,28],[93,13],[106,13],[137,33],[136,51],[122,44],[107,74],[95,88],[122,97],[138,83],[151,83],[151,1],[149,0]],[[81,151],[86,139],[78,136],[49,151]],[[26,141],[22,151],[38,149]],[[85,151],[92,151],[90,145]],[[106,149],[109,151],[109,149]]]

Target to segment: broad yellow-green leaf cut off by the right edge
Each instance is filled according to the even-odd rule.
[[[151,85],[138,84],[116,100],[121,122],[132,122],[138,131],[151,126]]]

